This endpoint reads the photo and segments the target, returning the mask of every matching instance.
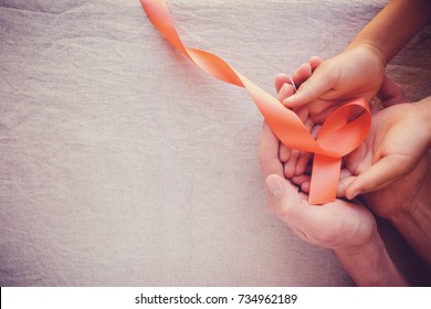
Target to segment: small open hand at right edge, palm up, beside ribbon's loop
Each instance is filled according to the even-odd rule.
[[[340,183],[346,198],[383,189],[418,167],[431,145],[430,106],[431,97],[393,105],[372,116],[368,137],[345,160],[351,173]]]

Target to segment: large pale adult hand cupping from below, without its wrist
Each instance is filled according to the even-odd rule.
[[[372,214],[358,203],[336,200],[309,205],[307,195],[285,179],[280,159],[280,140],[264,122],[259,157],[269,207],[303,239],[339,252],[359,251],[377,233]]]

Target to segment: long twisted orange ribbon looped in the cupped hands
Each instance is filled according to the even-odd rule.
[[[323,124],[315,140],[294,111],[245,78],[222,58],[206,51],[186,47],[178,36],[165,0],[140,0],[140,3],[153,24],[185,56],[209,75],[244,87],[267,125],[286,147],[314,153],[308,201],[311,204],[334,201],[341,158],[362,142],[371,125],[368,103],[364,98],[358,98],[336,109]],[[350,109],[354,107],[362,108],[364,113],[348,121]]]

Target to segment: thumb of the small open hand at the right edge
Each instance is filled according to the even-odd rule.
[[[383,157],[357,177],[353,177],[346,189],[346,198],[351,200],[361,193],[380,190],[409,172],[410,166],[402,160]]]

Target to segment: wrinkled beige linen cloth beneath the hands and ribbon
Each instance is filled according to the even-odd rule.
[[[171,0],[183,42],[274,94],[330,57],[381,0]],[[402,25],[400,25],[402,26]],[[388,66],[431,95],[431,29]],[[168,45],[138,0],[0,0],[1,286],[353,286],[270,214],[246,92]],[[424,265],[389,224],[414,285]]]

